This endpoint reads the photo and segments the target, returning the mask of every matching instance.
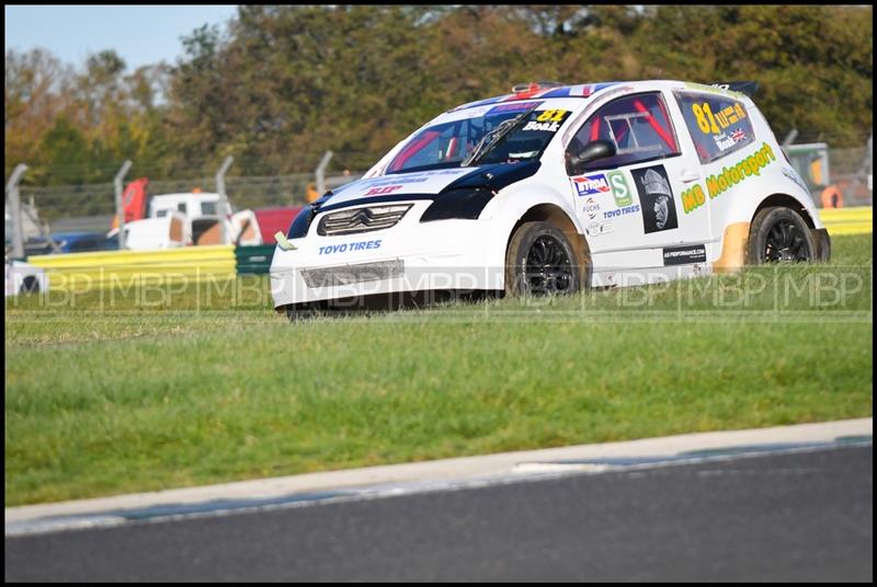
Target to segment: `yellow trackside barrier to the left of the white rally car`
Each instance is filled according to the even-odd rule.
[[[232,279],[235,246],[184,246],[161,251],[102,251],[34,255],[27,262],[46,271],[49,289],[91,289],[135,284]]]

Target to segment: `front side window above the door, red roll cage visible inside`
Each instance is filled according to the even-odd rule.
[[[572,137],[567,148],[567,162],[594,140],[614,143],[616,154],[574,170],[569,169],[570,175],[680,154],[673,123],[659,92],[624,96],[603,105]]]

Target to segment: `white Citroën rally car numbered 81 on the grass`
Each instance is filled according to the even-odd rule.
[[[752,83],[533,83],[453,108],[280,235],[277,310],[572,292],[824,261]]]

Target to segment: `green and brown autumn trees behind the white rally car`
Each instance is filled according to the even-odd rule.
[[[371,165],[443,111],[513,83],[754,79],[774,131],[858,146],[872,129],[870,7],[240,7],[174,66],[112,50],[73,70],[7,51],[5,171],[31,183]]]

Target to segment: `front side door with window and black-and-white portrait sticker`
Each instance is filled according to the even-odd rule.
[[[680,119],[676,104],[669,104],[662,92],[636,93],[601,106],[571,139],[568,161],[594,140],[610,141],[616,150],[611,158],[567,170],[597,257],[625,267],[706,262],[708,209],[683,207],[702,176],[691,140],[680,140],[674,124]]]

